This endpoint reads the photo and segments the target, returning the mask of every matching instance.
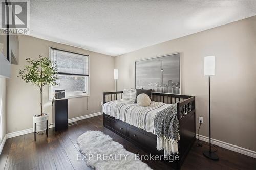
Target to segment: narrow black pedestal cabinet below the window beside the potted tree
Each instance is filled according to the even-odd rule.
[[[68,99],[54,101],[55,131],[68,129]]]

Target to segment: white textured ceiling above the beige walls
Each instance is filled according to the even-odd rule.
[[[254,15],[255,0],[31,0],[30,34],[117,56]]]

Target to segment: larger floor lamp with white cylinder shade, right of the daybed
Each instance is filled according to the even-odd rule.
[[[215,56],[204,57],[204,75],[209,77],[209,151],[204,151],[203,155],[211,160],[219,160],[218,155],[211,151],[210,138],[210,76],[215,75]]]

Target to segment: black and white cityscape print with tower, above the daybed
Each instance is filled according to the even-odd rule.
[[[136,89],[180,94],[180,54],[156,57],[135,63]]]

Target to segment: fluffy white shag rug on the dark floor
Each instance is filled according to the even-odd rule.
[[[78,137],[80,153],[79,160],[96,170],[135,170],[151,168],[136,159],[136,155],[123,148],[118,142],[112,140],[109,135],[101,131],[87,131]]]

